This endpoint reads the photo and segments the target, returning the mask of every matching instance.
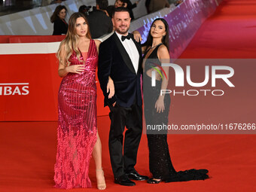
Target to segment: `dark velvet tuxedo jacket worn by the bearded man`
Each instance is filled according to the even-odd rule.
[[[139,69],[136,71],[130,56],[114,32],[99,46],[98,78],[105,96],[105,105],[117,102],[122,107],[130,107],[136,100],[142,105],[140,77],[142,75],[142,47],[133,39],[139,51]],[[114,96],[108,99],[108,76],[114,81]]]

